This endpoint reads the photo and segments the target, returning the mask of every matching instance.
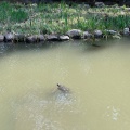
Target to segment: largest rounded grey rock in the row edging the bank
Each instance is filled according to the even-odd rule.
[[[67,35],[74,39],[81,39],[81,30],[79,29],[72,29],[67,31]]]

